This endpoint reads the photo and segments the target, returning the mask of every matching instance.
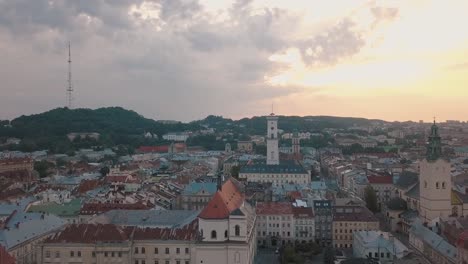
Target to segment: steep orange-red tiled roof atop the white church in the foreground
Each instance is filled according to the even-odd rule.
[[[239,192],[232,180],[226,181],[206,207],[198,215],[203,219],[225,219],[244,202],[244,196]]]

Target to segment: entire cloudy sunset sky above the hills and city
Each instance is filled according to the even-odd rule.
[[[0,119],[468,120],[468,1],[0,0]]]

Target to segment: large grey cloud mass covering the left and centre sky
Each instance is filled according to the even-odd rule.
[[[65,103],[68,40],[76,106],[121,105],[180,120],[259,109],[304,92],[265,81],[284,67],[270,56],[290,46],[323,66],[365,44],[351,19],[298,38],[300,15],[252,2],[237,0],[220,18],[197,0],[0,0],[2,112],[13,117]]]

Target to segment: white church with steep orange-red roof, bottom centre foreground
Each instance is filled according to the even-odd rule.
[[[233,180],[219,187],[200,213],[198,228],[202,239],[197,243],[195,263],[253,263],[256,214]]]

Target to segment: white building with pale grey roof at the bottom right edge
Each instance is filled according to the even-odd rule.
[[[392,234],[382,231],[358,231],[353,233],[353,255],[356,258],[376,258],[380,263],[394,263],[409,253]]]

